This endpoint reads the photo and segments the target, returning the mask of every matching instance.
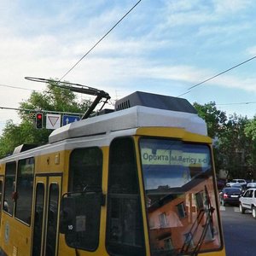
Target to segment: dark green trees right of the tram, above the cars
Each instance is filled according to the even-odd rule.
[[[205,119],[209,137],[214,138],[213,153],[217,173],[224,170],[229,173],[230,178],[256,177],[251,154],[253,145],[245,132],[248,119],[237,116],[236,113],[228,118],[216,108],[215,102],[205,105],[194,103],[194,107],[201,118]],[[255,130],[252,128],[251,131]],[[256,137],[256,133],[254,136]]]

